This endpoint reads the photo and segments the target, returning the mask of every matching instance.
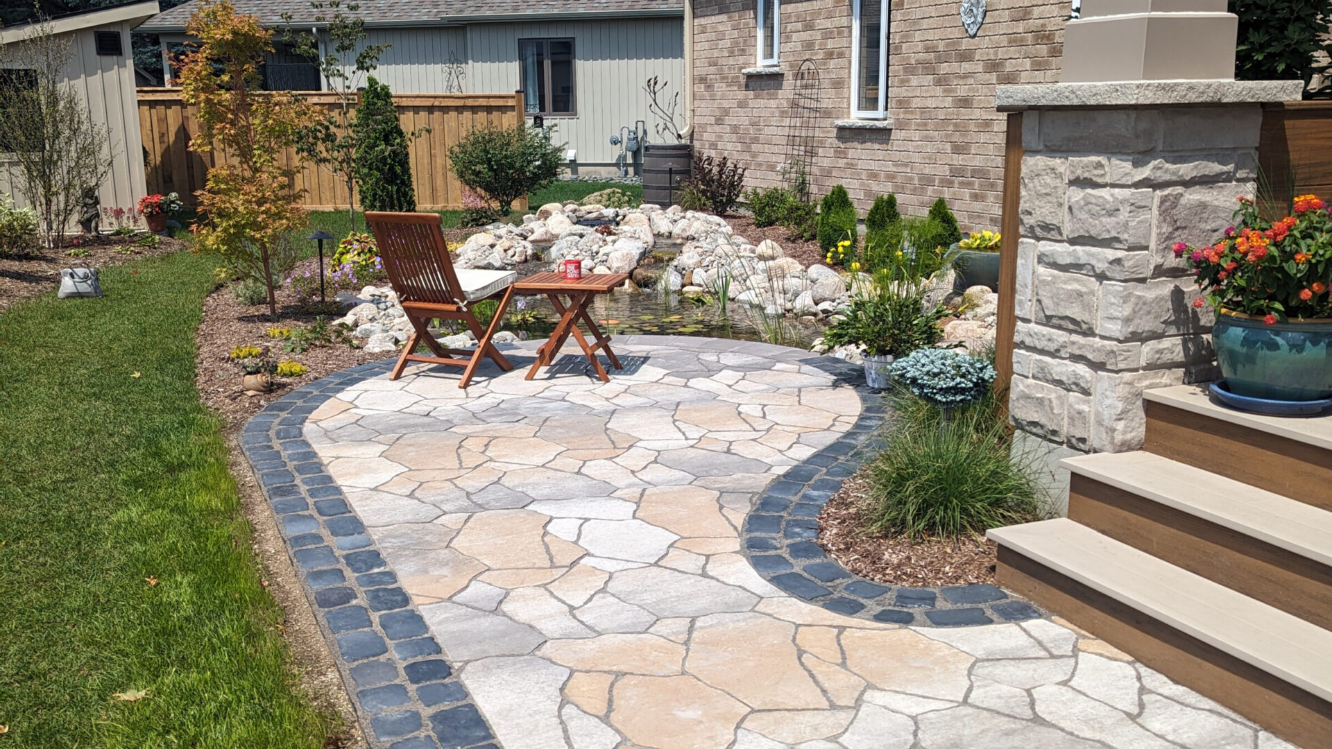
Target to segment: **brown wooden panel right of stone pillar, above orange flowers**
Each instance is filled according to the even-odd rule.
[[[1264,105],[1257,163],[1276,205],[1304,193],[1332,200],[1332,101]]]

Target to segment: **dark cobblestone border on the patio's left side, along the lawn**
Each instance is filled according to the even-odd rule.
[[[337,652],[370,746],[500,749],[397,574],[304,437],[305,418],[320,404],[392,365],[362,364],[292,390],[245,424],[241,445],[320,629]]]

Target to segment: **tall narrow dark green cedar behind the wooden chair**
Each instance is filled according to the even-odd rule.
[[[389,87],[369,76],[356,108],[356,179],[366,211],[416,211],[408,136]]]

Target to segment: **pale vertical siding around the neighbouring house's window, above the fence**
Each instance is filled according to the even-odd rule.
[[[610,163],[619,148],[610,136],[621,125],[655,120],[647,113],[643,81],[661,76],[671,87],[685,83],[683,21],[638,19],[626,21],[549,21],[473,24],[468,27],[469,92],[518,89],[518,40],[574,39],[574,96],[578,116],[547,117],[557,137],[578,149],[579,164]]]

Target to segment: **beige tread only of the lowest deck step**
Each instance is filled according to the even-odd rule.
[[[1332,701],[1332,632],[1066,517],[988,537],[1305,692]]]

